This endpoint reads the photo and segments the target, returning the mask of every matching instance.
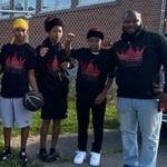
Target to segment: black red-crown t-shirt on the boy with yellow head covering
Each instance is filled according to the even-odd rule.
[[[28,43],[4,45],[0,53],[0,63],[3,67],[2,97],[22,97],[29,90],[28,71],[35,68],[36,50]]]

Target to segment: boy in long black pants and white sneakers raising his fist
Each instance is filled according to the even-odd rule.
[[[68,35],[66,51],[79,61],[77,75],[77,118],[78,118],[78,151],[75,164],[82,164],[87,155],[89,110],[92,111],[94,143],[90,153],[90,166],[99,166],[100,149],[104,134],[104,117],[106,96],[114,72],[109,73],[108,51],[101,49],[104,33],[92,28],[87,33],[88,47],[70,50],[72,33]],[[114,70],[110,70],[114,71]]]

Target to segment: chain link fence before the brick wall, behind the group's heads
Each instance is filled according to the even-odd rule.
[[[76,33],[73,47],[86,47],[86,33],[91,27],[105,32],[106,41],[116,41],[121,35],[121,16],[128,9],[141,12],[144,23],[159,31],[161,0],[0,0],[0,48],[12,37],[11,22],[17,17],[29,20],[29,42],[35,48],[47,37],[43,21],[48,16],[65,22],[63,39]],[[73,87],[72,87],[73,88]]]

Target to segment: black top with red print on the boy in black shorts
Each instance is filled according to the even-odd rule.
[[[41,57],[40,52],[43,48],[48,51],[45,57]],[[61,63],[67,60],[61,43],[53,46],[47,38],[37,47],[37,55],[36,73],[40,91],[49,98],[66,97],[69,80],[61,68]]]

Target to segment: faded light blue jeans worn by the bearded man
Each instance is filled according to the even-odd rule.
[[[156,167],[163,114],[156,99],[118,98],[124,164],[131,167]],[[137,130],[141,132],[138,156]]]

